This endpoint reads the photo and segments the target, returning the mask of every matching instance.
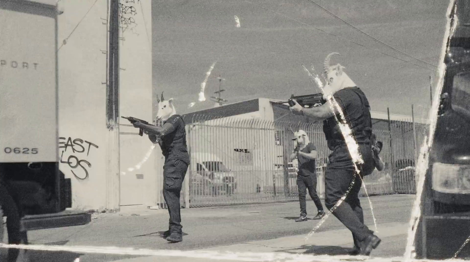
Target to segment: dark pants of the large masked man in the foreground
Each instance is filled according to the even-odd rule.
[[[370,174],[374,170],[374,162],[369,144],[360,144],[360,153],[364,164],[360,165],[361,176]],[[333,208],[351,185],[354,176],[354,167],[346,147],[340,147],[329,156],[329,165],[325,172],[325,205],[328,209]],[[363,241],[374,231],[368,229],[364,224],[364,214],[360,206],[359,191],[362,186],[360,177],[356,174],[355,183],[333,215],[337,217],[351,232],[354,244],[359,247]]]

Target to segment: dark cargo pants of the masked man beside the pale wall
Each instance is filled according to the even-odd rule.
[[[188,164],[180,159],[165,161],[163,166],[163,198],[170,215],[170,232],[182,233],[180,192]]]

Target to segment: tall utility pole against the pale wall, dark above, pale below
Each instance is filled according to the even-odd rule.
[[[106,172],[106,209],[119,211],[119,0],[110,1],[108,83],[106,85],[106,125],[108,154]]]

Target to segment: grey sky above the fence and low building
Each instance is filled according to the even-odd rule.
[[[321,9],[326,9],[327,11]],[[430,80],[446,25],[446,0],[152,0],[153,90],[178,114],[259,97],[320,92],[302,64],[321,73],[331,52],[371,110],[427,117]],[[235,25],[235,17],[240,27]],[[343,21],[341,21],[341,20]],[[357,28],[357,31],[346,23]],[[371,39],[367,35],[371,36]],[[382,43],[379,43],[382,42]],[[390,47],[388,47],[388,46]],[[201,83],[216,62],[198,101]],[[196,104],[188,107],[191,102]]]

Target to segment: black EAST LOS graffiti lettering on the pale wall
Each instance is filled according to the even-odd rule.
[[[62,140],[65,140],[65,138],[61,137],[59,139],[62,139]],[[79,143],[78,143],[79,142]],[[72,148],[72,152],[75,153],[84,153],[85,152],[85,147],[82,145],[83,142],[85,142],[86,144],[88,144],[88,150],[86,152],[86,155],[88,156],[88,154],[90,153],[90,148],[91,146],[94,146],[96,148],[98,148],[97,145],[93,144],[92,142],[88,142],[86,140],[83,140],[83,139],[71,139],[70,137],[67,139],[67,142],[59,142],[59,144],[63,144],[64,146],[59,146],[59,148],[65,148],[63,151],[62,151],[62,155],[61,155],[61,159],[60,159],[60,162],[61,163],[64,163],[64,164],[68,164],[69,167],[71,169],[76,169],[78,168],[78,166],[80,166],[84,171],[85,171],[85,177],[79,177],[77,176],[77,174],[71,170],[72,174],[77,177],[78,179],[80,180],[84,180],[86,178],[88,178],[88,170],[86,169],[86,167],[83,165],[83,163],[85,163],[86,165],[88,165],[88,168],[91,168],[91,163],[82,159],[82,160],[79,160],[77,156],[75,155],[69,155],[69,157],[67,158],[67,161],[63,161],[63,153],[65,151],[67,151],[67,148],[70,146]],[[79,146],[78,149],[75,149],[75,146]],[[74,159],[75,162],[72,162],[71,160]]]

